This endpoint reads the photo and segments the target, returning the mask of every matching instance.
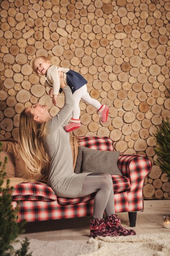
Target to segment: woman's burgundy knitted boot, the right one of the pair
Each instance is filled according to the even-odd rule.
[[[133,229],[125,229],[120,225],[120,219],[117,214],[112,214],[106,218],[106,229],[108,232],[117,232],[118,236],[134,236],[136,234]]]

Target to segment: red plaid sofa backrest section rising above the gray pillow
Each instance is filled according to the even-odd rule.
[[[95,136],[88,136],[88,137],[77,137],[80,146],[84,146],[87,148],[98,149],[98,150],[108,150],[113,151],[113,140],[109,137],[95,137]]]

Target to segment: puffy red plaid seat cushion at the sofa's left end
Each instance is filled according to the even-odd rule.
[[[57,200],[57,195],[46,184],[23,182],[13,186],[12,201],[44,201]]]

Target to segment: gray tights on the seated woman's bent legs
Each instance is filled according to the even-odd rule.
[[[78,197],[83,197],[91,193],[96,193],[94,198],[93,218],[103,218],[115,213],[113,182],[109,173],[90,173],[85,177],[81,193]]]

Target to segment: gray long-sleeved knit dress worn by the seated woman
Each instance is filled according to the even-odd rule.
[[[76,174],[73,170],[70,135],[63,127],[70,119],[74,101],[69,86],[64,87],[63,92],[65,104],[59,113],[48,121],[48,135],[44,141],[50,159],[48,185],[58,196],[76,198],[82,190],[85,176],[89,173]]]

